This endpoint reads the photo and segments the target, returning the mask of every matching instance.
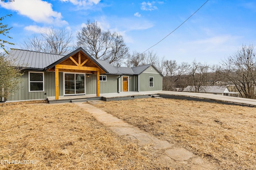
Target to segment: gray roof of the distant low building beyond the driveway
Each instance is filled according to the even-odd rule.
[[[195,92],[194,86],[187,86],[183,92]],[[229,93],[226,86],[200,86],[200,93]]]

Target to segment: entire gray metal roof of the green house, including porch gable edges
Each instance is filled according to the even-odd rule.
[[[139,75],[144,70],[146,70],[149,66],[153,66],[152,64],[147,64],[147,65],[136,66],[136,67],[132,67],[132,68],[128,68],[128,67],[119,67],[118,68],[116,66],[112,66],[107,61],[94,59],[86,51],[84,51],[84,49],[82,49],[82,47],[72,51],[71,53],[69,53],[68,55],[65,55],[65,56],[18,49],[18,50],[11,50],[8,57],[10,59],[15,58],[16,59],[15,64],[18,66],[24,66],[27,69],[44,70],[46,68],[49,69],[49,68],[54,67],[56,64],[66,60],[68,57],[74,55],[75,53],[78,53],[78,51],[82,51],[83,53],[85,53],[90,59],[92,59],[92,61],[94,61],[94,63],[96,63],[100,68],[102,68],[102,70],[104,70],[106,72],[106,74],[117,74],[117,75],[122,75],[122,74],[134,75],[135,74],[135,75]]]

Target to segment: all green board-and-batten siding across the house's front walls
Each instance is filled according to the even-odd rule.
[[[97,79],[96,74],[89,74],[85,80],[86,94],[96,94]],[[104,93],[117,93],[118,84],[117,80],[119,75],[109,75],[107,74],[107,81],[100,81],[100,94]],[[129,91],[154,91],[162,90],[162,76],[150,66],[144,72],[138,75],[123,75],[128,76]],[[139,82],[138,82],[139,77]],[[149,87],[149,77],[154,77],[154,87]],[[28,71],[26,70],[21,77],[22,83],[18,92],[11,94],[8,101],[18,101],[18,100],[37,100],[46,99],[50,96],[55,96],[55,72],[44,72],[44,92],[29,92],[28,89]],[[122,76],[120,80],[120,92],[122,92]],[[138,89],[139,86],[139,89]],[[59,95],[63,96],[63,72],[59,72]]]

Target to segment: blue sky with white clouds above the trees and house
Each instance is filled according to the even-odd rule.
[[[123,35],[132,51],[143,52],[156,44],[206,0],[15,0],[0,3],[3,23],[20,48],[26,37],[48,27],[65,27],[76,36],[95,20],[104,30]],[[2,36],[2,35],[0,35]],[[3,39],[3,37],[0,37]],[[243,44],[256,44],[255,0],[209,0],[190,20],[152,49],[158,57],[181,62],[218,64]]]

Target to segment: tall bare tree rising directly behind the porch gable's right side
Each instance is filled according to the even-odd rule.
[[[106,60],[109,63],[122,61],[128,55],[122,35],[110,31],[103,31],[96,21],[87,21],[77,34],[77,45],[83,47],[95,59]]]

